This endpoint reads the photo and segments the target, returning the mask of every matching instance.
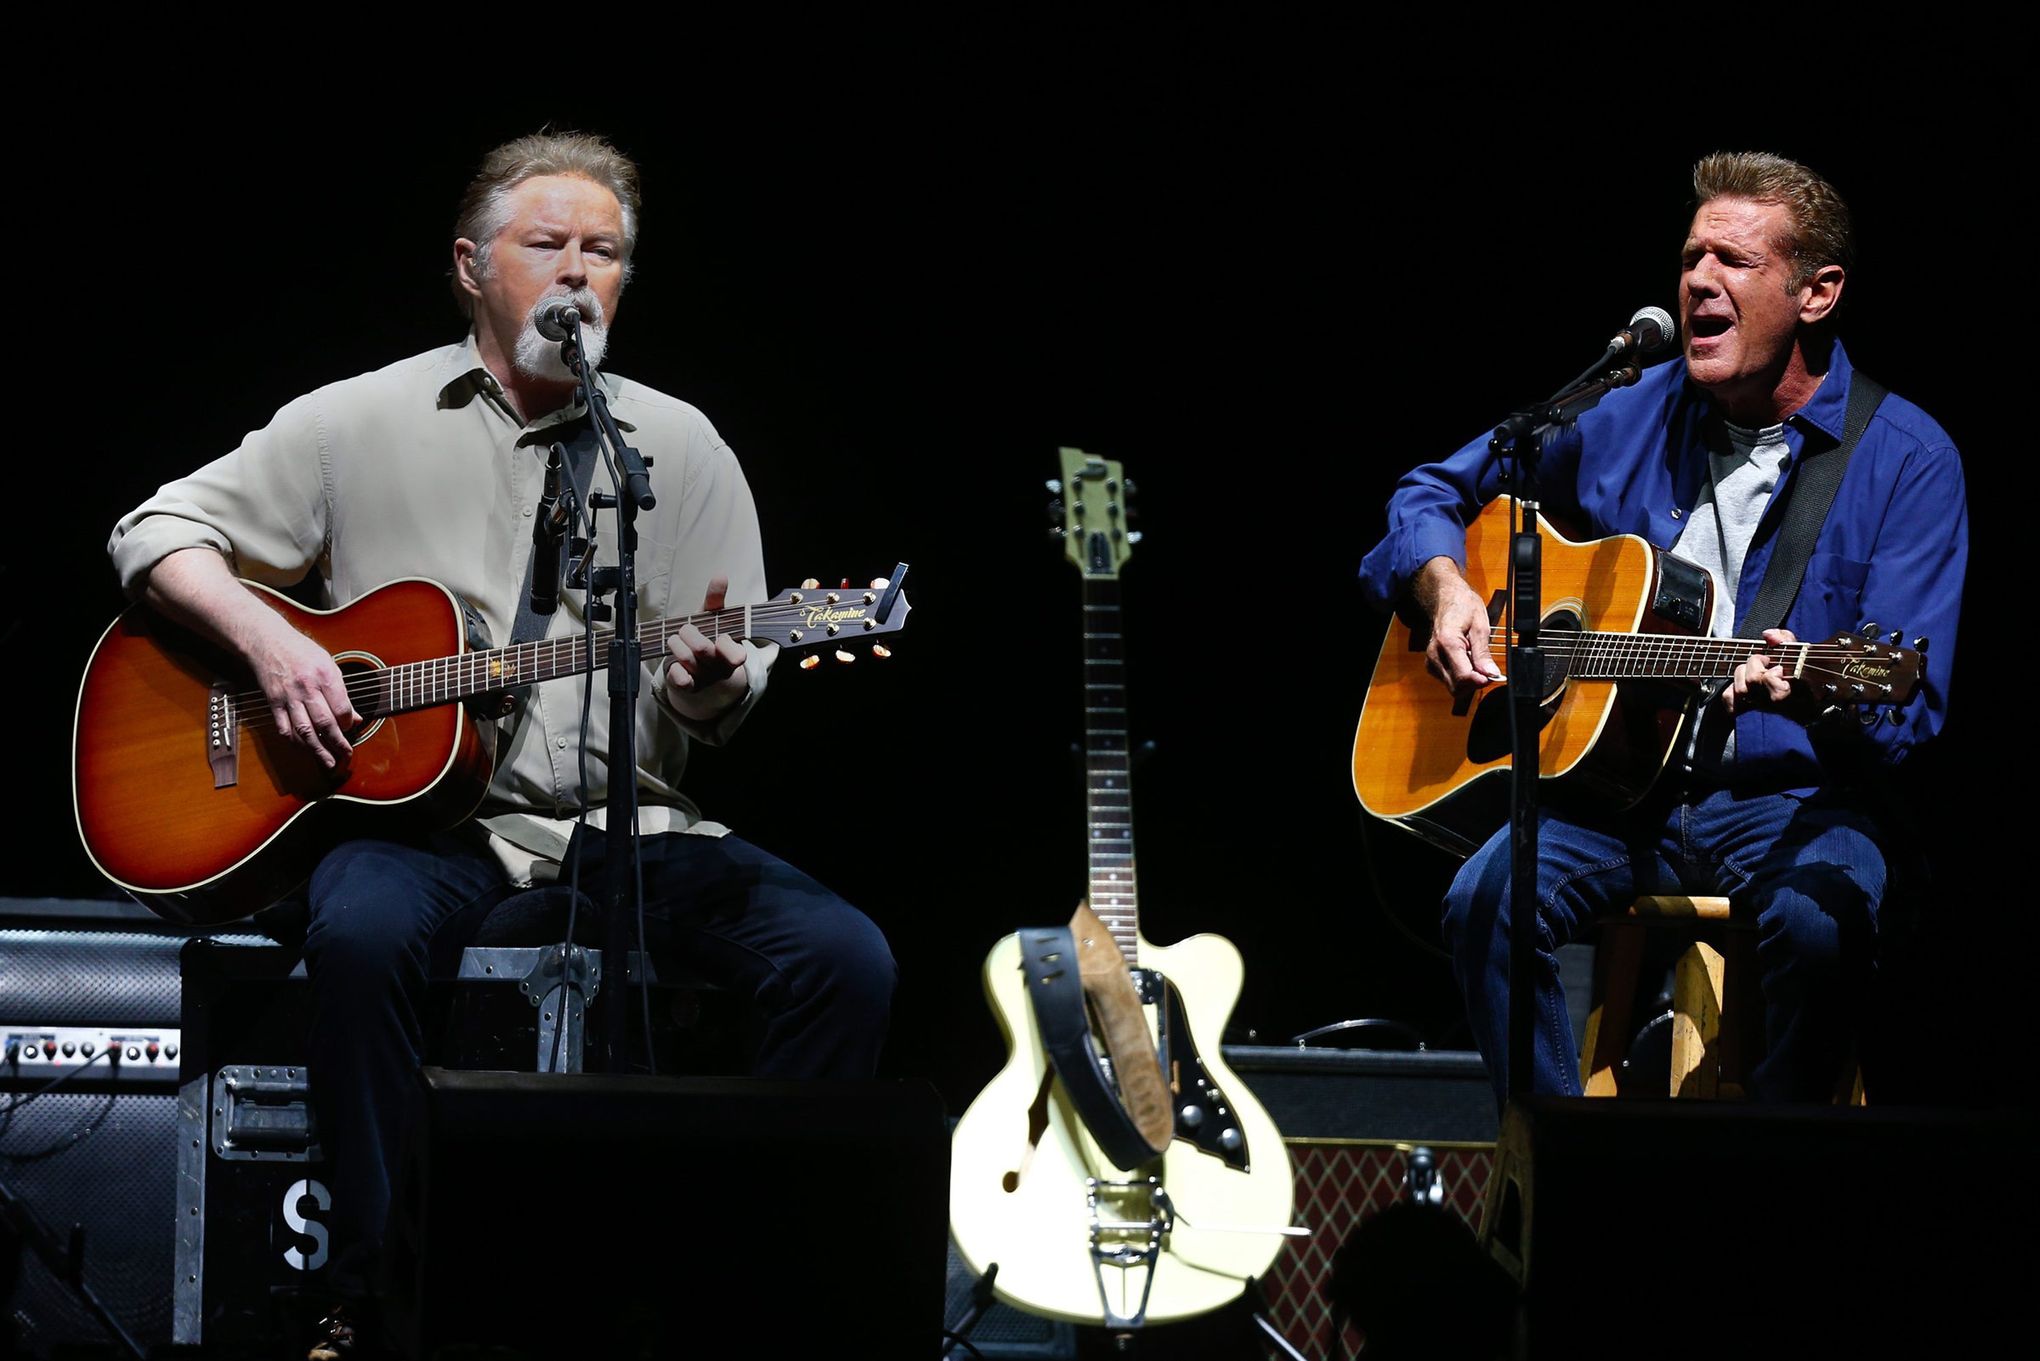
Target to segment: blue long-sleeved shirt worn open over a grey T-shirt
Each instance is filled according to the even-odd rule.
[[[1854,369],[1836,341],[1828,377],[1785,420],[1791,453],[1765,510],[1736,592],[1740,622],[1771,565],[1807,431],[1824,449],[1842,437]],[[1634,388],[1608,394],[1573,426],[1548,433],[1538,473],[1546,512],[1577,514],[1589,537],[1638,535],[1669,549],[1705,486],[1701,418],[1707,396],[1687,382],[1685,363],[1646,369]],[[1503,492],[1487,457],[1487,433],[1442,463],[1404,475],[1389,498],[1387,537],[1361,563],[1361,586],[1377,608],[1393,606],[1432,557],[1465,567],[1465,526]],[[1834,506],[1814,543],[1805,584],[1785,616],[1799,639],[1820,641],[1875,620],[1909,643],[1926,637],[1920,694],[1899,710],[1899,726],[1826,724],[1816,755],[1807,728],[1773,712],[1736,716],[1738,788],[1805,792],[1826,777],[1860,773],[1865,763],[1897,763],[1934,737],[1948,714],[1954,626],[1969,563],[1969,508],[1954,441],[1897,394],[1879,404],[1848,461]]]

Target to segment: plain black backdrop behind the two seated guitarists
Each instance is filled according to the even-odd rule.
[[[1985,639],[2005,635],[1989,624],[2032,439],[1983,314],[2024,273],[2024,241],[1997,245],[2013,218],[1993,173],[2030,145],[2003,141],[2001,110],[1948,82],[1926,114],[1712,90],[1740,112],[1640,120],[1620,100],[1510,108],[1465,67],[1375,84],[1401,59],[1328,33],[1077,47],[1026,78],[991,73],[1014,55],[991,39],[926,63],[753,49],[743,71],[698,51],[630,102],[541,100],[508,75],[510,94],[414,94],[375,69],[218,96],[151,80],[122,102],[153,116],[67,120],[69,169],[22,208],[57,290],[22,280],[24,310],[49,298],[65,322],[55,355],[41,333],[14,349],[16,449],[55,477],[14,484],[0,541],[6,892],[104,892],[63,790],[75,677],[122,604],[114,518],[288,398],[457,339],[457,190],[486,147],[553,120],[643,163],[612,363],[736,447],[775,588],[912,563],[889,663],[783,667],[694,779],[710,816],[885,928],[889,1071],[961,1110],[1002,1061],[985,949],[1083,892],[1077,579],[1042,488],[1065,443],[1124,459],[1149,533],[1126,571],[1134,728],[1155,743],[1134,786],[1146,935],[1244,951],[1232,1039],[1387,1016],[1463,1047],[1432,945],[1452,863],[1371,826],[1350,790],[1383,626],[1353,571],[1404,467],[1673,304],[1687,167],[1754,145],[1850,200],[1844,337],[1969,459],[1971,596],[1928,828],[1948,881],[1932,986],[1893,1024],[1948,1065],[1936,1096],[2009,1092],[1989,1051],[2020,1032],[2034,932],[2001,814],[2024,794],[2020,733],[1987,677],[2018,686],[2026,653]]]

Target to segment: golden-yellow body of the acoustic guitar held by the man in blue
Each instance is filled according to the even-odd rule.
[[[1636,535],[1589,543],[1542,531],[1542,624],[1589,633],[1695,637],[1714,610],[1707,573]],[[1467,582],[1491,602],[1497,649],[1508,592],[1510,504],[1495,500],[1467,526]],[[1424,667],[1428,628],[1389,624],[1353,739],[1361,806],[1457,855],[1471,855],[1508,820],[1510,688],[1469,702]],[[1497,665],[1506,657],[1497,651]],[[1550,667],[1542,684],[1538,771],[1616,806],[1640,800],[1677,749],[1691,682],[1577,679]]]

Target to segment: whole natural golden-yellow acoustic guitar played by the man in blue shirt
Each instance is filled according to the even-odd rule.
[[[1575,543],[1546,522],[1542,547],[1538,773],[1569,794],[1626,808],[1679,751],[1687,722],[1750,653],[1773,655],[1801,718],[1869,714],[1911,700],[1920,647],[1877,624],[1824,643],[1775,649],[1761,639],[1701,637],[1714,616],[1705,569],[1636,535]],[[1508,663],[1510,502],[1467,526],[1467,584],[1489,602],[1495,665]],[[1510,692],[1455,698],[1426,669],[1430,631],[1395,618],[1367,684],[1353,737],[1353,790],[1377,818],[1457,855],[1508,822]],[[1514,684],[1514,682],[1512,682]]]

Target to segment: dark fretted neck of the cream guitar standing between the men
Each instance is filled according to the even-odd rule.
[[[1128,963],[1138,959],[1132,761],[1126,749],[1126,657],[1118,577],[1083,577],[1083,788],[1091,912]]]

